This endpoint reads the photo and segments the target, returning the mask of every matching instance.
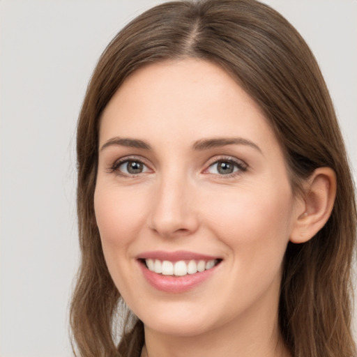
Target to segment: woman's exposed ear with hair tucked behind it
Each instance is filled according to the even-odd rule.
[[[305,243],[324,227],[331,215],[336,196],[336,175],[330,167],[314,170],[304,185],[291,229],[292,243]]]

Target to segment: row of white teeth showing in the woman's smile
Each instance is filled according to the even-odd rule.
[[[158,259],[145,259],[146,266],[149,268],[149,271],[153,271],[157,274],[162,275],[176,275],[184,276],[187,274],[195,274],[202,272],[208,269],[213,268],[218,261],[215,259],[204,261],[204,260],[190,260],[186,263],[183,260],[172,262],[168,260],[160,261]]]

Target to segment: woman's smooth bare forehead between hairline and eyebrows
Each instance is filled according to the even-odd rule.
[[[161,142],[239,135],[276,142],[255,100],[220,66],[198,59],[153,63],[132,73],[102,114],[100,142],[114,135]]]

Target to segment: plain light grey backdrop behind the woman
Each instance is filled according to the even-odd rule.
[[[75,126],[98,56],[154,0],[0,0],[0,356],[70,356]],[[357,168],[357,0],[266,0],[317,56]],[[357,324],[356,324],[357,326]]]

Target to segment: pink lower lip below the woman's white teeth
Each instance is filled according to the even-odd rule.
[[[205,280],[211,277],[217,268],[217,266],[213,266],[213,268],[202,271],[201,273],[187,274],[184,276],[172,276],[149,271],[149,269],[146,268],[141,261],[139,261],[139,265],[142,269],[144,277],[149,284],[151,284],[151,286],[160,291],[176,294],[194,289],[199,284],[202,284]]]

